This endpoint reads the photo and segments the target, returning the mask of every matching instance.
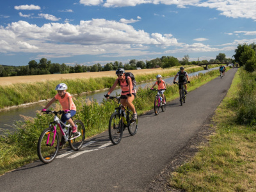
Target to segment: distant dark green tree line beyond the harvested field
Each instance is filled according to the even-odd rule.
[[[162,56],[161,58],[156,58],[150,61],[138,61],[130,60],[129,63],[123,64],[122,62],[110,62],[102,66],[100,63],[94,64],[92,66],[86,65],[66,65],[65,63],[51,63],[51,60],[42,58],[39,62],[35,60],[29,61],[26,66],[6,66],[0,65],[0,77],[6,76],[33,76],[42,74],[70,74],[70,73],[80,73],[80,72],[99,72],[99,71],[109,71],[116,70],[117,68],[124,68],[125,70],[132,70],[136,68],[168,68],[179,65],[198,65],[201,63],[218,63],[227,62],[230,59],[226,58],[224,53],[218,54],[216,60],[202,60],[202,61],[189,61],[189,55],[185,55],[182,60],[178,60],[173,56]]]

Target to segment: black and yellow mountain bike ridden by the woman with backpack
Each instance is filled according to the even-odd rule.
[[[132,120],[131,110],[125,108],[120,103],[120,96],[109,97],[109,99],[118,100],[118,107],[115,108],[115,112],[111,115],[108,127],[109,139],[114,145],[117,145],[122,140],[125,127],[127,127],[131,136],[134,136],[134,134],[136,134],[136,132],[138,131],[138,117],[136,121]],[[123,111],[122,109],[125,109],[125,111]]]

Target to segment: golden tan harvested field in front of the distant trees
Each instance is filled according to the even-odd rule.
[[[132,72],[136,74],[150,74],[159,71],[163,71],[162,68],[147,68],[141,70],[127,70],[127,72]],[[51,81],[58,79],[82,79],[82,78],[96,78],[96,77],[116,77],[115,71],[102,71],[102,72],[84,72],[76,74],[50,74],[50,75],[40,75],[40,76],[13,76],[13,77],[0,77],[0,86],[8,85],[13,83],[32,83],[38,81]]]

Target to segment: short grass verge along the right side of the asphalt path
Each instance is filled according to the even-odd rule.
[[[256,130],[246,122],[248,118],[244,118],[243,123],[240,118],[250,116],[244,109],[252,106],[244,107],[243,97],[246,95],[241,85],[248,84],[248,79],[241,80],[239,74],[241,72],[237,72],[227,96],[216,109],[213,118],[216,134],[210,136],[209,145],[201,147],[189,163],[172,173],[170,185],[173,188],[186,191],[255,191]],[[253,81],[254,78],[255,74]],[[252,87],[248,87],[248,91],[252,92]],[[245,113],[239,115],[243,111]]]

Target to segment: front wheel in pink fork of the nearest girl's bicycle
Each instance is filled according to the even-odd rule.
[[[54,138],[54,128],[48,127],[45,129],[37,143],[37,155],[43,163],[51,163],[58,154],[60,148],[60,138],[58,132],[56,132]]]

